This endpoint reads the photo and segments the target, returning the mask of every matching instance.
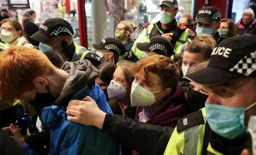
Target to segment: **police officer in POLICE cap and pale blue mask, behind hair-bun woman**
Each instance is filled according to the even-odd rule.
[[[219,44],[225,38],[220,35],[218,29],[220,27],[221,13],[218,8],[207,6],[199,9],[196,16],[196,35],[200,34],[209,34],[212,35],[214,40]],[[181,53],[187,44],[191,41],[192,38],[188,39],[188,42],[182,45]]]

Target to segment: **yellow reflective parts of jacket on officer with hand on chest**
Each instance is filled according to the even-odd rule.
[[[177,22],[177,26],[179,25],[179,22]],[[138,39],[134,42],[132,46],[132,52],[134,55],[138,57],[138,59],[142,58],[142,51],[137,48],[137,43],[140,42],[147,42],[149,40],[149,35],[152,31],[152,29],[156,26],[157,30],[161,33],[164,34],[163,31],[161,31],[156,24],[150,24],[145,30],[143,30],[138,37]],[[174,52],[180,53],[182,45],[188,41],[188,39],[191,37],[191,32],[192,30],[186,28],[184,32],[180,35],[179,40],[175,43],[174,47]],[[147,51],[148,52],[148,51]]]

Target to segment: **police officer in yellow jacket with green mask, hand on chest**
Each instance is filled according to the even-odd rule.
[[[186,26],[179,25],[175,16],[178,11],[177,0],[164,0],[160,5],[160,20],[157,23],[150,24],[145,30],[142,31],[139,38],[134,42],[132,51],[139,59],[142,58],[143,52],[136,46],[139,42],[147,42],[151,37],[162,35],[163,37],[171,40],[174,47],[174,52],[180,52],[183,43],[194,35],[194,32]]]

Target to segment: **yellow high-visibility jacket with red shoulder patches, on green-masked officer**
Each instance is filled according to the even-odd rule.
[[[180,34],[180,37],[178,39],[178,41],[175,43],[175,47],[174,47],[174,52],[178,52],[180,53],[181,51],[181,47],[184,43],[186,42],[190,42],[191,40],[188,40],[191,36],[195,35],[195,33],[190,30],[189,28],[187,28],[186,26],[181,26],[179,24],[179,22],[177,22],[177,30],[183,30],[182,33]],[[133,46],[132,46],[132,52],[134,53],[134,55],[137,56],[138,59],[141,59],[142,58],[142,51],[139,50],[137,48],[137,43],[140,43],[140,42],[147,42],[151,37],[155,36],[156,33],[153,29],[156,29],[158,32],[160,32],[161,34],[164,34],[163,31],[161,31],[157,24],[154,23],[154,24],[150,24],[146,29],[144,29],[140,36],[138,37],[138,39],[134,42]],[[153,31],[152,31],[153,30]],[[152,34],[154,33],[154,34]],[[175,33],[175,32],[174,32]]]

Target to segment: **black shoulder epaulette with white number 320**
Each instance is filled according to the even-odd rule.
[[[204,124],[204,116],[202,110],[196,111],[180,118],[177,122],[177,132],[200,124]]]

